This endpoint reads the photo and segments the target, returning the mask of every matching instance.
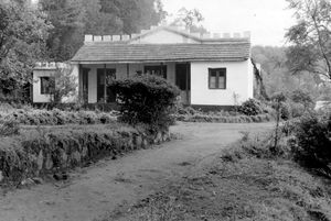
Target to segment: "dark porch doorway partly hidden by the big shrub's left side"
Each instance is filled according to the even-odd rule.
[[[110,90],[108,84],[116,79],[116,69],[98,68],[97,69],[97,101],[98,102],[115,102],[116,96]]]

